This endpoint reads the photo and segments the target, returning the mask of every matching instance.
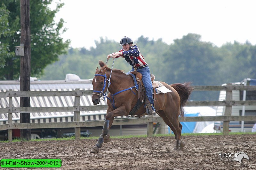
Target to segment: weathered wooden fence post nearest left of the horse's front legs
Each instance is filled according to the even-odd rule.
[[[80,89],[75,89],[75,101],[74,101],[74,106],[80,106],[80,95],[79,95],[79,90]],[[80,111],[75,111],[74,112],[74,122],[80,122]],[[81,137],[81,128],[80,127],[75,127],[75,137],[76,139],[80,139]]]

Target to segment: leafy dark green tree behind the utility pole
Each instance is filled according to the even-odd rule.
[[[2,0],[3,4],[10,11],[8,22],[9,29],[13,31],[11,36],[1,38],[1,41],[9,45],[8,52],[11,57],[5,59],[4,68],[0,68],[0,79],[11,80],[19,78],[20,58],[14,56],[15,46],[20,45],[20,1]],[[57,4],[55,10],[51,10],[48,5],[52,0],[30,1],[30,26],[31,26],[31,76],[43,75],[44,68],[58,60],[58,56],[65,54],[70,43],[63,41],[60,37],[66,29],[62,28],[64,20],[54,22],[55,14],[64,5]]]

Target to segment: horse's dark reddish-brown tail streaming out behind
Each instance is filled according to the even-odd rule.
[[[193,91],[193,87],[190,86],[191,82],[185,82],[184,84],[175,83],[172,86],[180,95],[180,116],[184,117],[184,107],[188,101],[188,98]]]

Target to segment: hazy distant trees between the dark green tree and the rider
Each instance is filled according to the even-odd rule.
[[[78,75],[81,79],[93,78],[95,70],[99,67],[99,60],[107,61],[107,55],[120,50],[119,43],[100,38],[95,41],[96,48],[90,50],[85,48],[70,48],[68,55],[60,55],[60,60],[49,64],[45,70],[44,76],[39,77],[42,80],[64,79],[68,73]],[[124,59],[116,58],[114,66],[117,69],[124,69]],[[108,61],[108,66],[112,66],[113,60]],[[126,64],[127,66],[127,64]],[[54,75],[54,76],[52,76]]]

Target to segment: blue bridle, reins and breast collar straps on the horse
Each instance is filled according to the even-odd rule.
[[[103,95],[103,96],[104,96],[103,101],[104,101],[106,98],[111,101],[111,99],[109,99],[109,97],[107,96],[107,91],[106,91],[106,94],[104,94],[104,90],[105,90],[105,88],[106,88],[106,80],[108,80],[106,74],[104,74],[104,75],[102,75],[102,74],[95,74],[94,76],[103,76],[103,77],[104,77],[104,86],[103,86],[103,89],[102,89],[101,91],[93,90],[92,92],[98,92],[98,93],[100,93],[100,94],[99,94],[100,97]],[[109,82],[109,80],[108,80],[108,82]],[[109,85],[111,85],[110,82],[108,83],[108,86],[109,86]],[[112,104],[112,106],[113,106],[113,109],[116,109],[116,107],[115,107],[115,99],[114,99],[114,96],[115,96],[116,94],[119,94],[119,93],[124,92],[124,91],[126,91],[126,90],[131,90],[131,91],[132,91],[132,89],[135,88],[135,87],[137,87],[137,86],[139,86],[139,85],[134,85],[134,86],[132,86],[132,87],[130,87],[130,88],[121,90],[121,91],[116,92],[116,93],[114,93],[114,94],[111,94],[111,93],[110,93],[110,95],[112,96],[111,104]],[[132,92],[133,92],[133,91],[132,91]],[[133,94],[136,95],[135,92],[133,92]],[[98,94],[97,94],[97,95],[98,95]]]

